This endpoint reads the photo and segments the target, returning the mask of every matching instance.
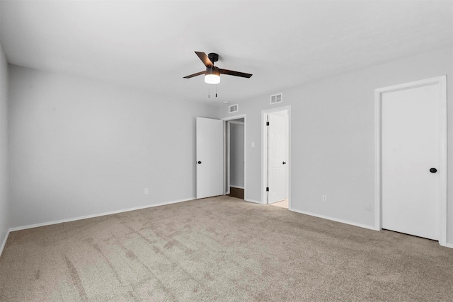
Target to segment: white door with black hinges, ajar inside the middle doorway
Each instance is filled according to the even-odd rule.
[[[280,115],[268,115],[268,204],[286,198],[286,121]]]

